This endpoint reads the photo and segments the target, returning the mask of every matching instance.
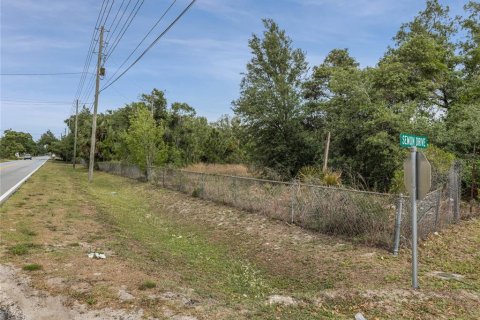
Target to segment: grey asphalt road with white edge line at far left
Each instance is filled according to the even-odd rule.
[[[41,167],[47,160],[48,157],[34,157],[32,160],[14,160],[0,163],[0,203],[16,190],[15,186]]]

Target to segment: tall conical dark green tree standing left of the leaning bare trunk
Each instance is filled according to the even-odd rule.
[[[307,62],[273,20],[265,19],[263,24],[263,38],[254,34],[249,40],[253,57],[233,110],[245,127],[250,158],[283,176],[292,176],[311,151],[302,130],[301,91]]]

